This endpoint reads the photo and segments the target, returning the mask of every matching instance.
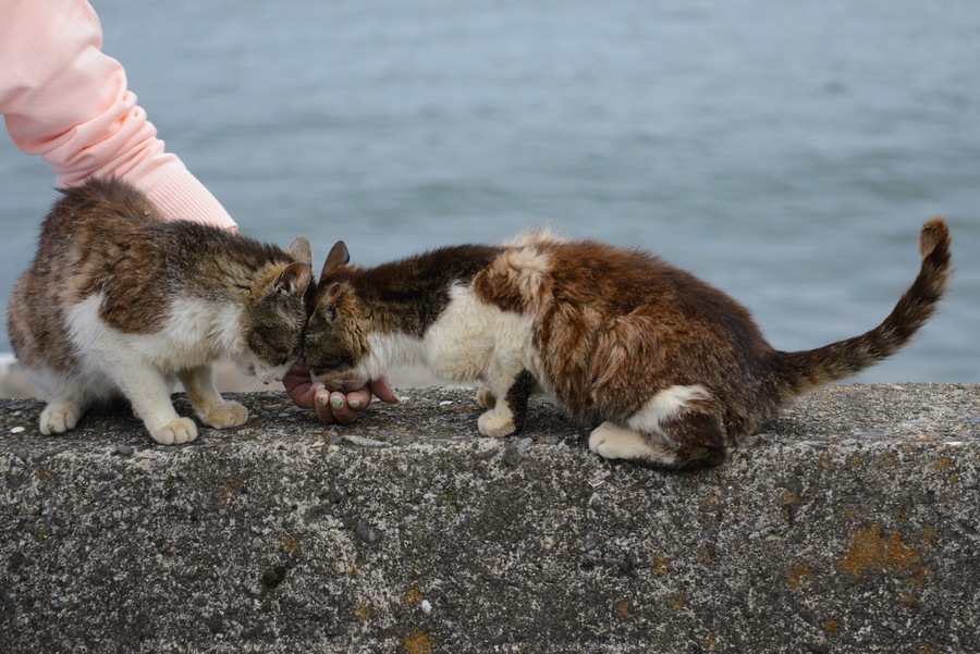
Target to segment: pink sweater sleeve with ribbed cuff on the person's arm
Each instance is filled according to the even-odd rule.
[[[122,65],[101,51],[84,0],[0,0],[0,113],[20,149],[50,164],[59,186],[115,175],[164,215],[235,226],[126,89]]]

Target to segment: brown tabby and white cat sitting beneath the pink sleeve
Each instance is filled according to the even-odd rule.
[[[281,377],[296,359],[313,281],[306,238],[290,251],[188,221],[164,221],[118,180],[62,192],[37,255],[17,280],[8,331],[47,407],[40,431],[75,427],[120,392],[158,443],[197,436],[170,400],[183,382],[200,419],[242,424],[245,408],[215,387],[211,362]]]

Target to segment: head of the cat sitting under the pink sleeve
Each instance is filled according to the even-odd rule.
[[[270,264],[258,276],[241,317],[245,353],[240,365],[266,383],[281,380],[299,357],[306,325],[313,250],[305,237],[297,236],[289,254],[292,262]]]

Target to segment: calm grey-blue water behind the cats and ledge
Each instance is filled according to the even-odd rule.
[[[253,236],[377,263],[549,222],[661,254],[796,349],[883,319],[941,214],[942,312],[856,381],[980,382],[972,0],[95,7],[169,148]],[[51,186],[0,145],[4,305]]]

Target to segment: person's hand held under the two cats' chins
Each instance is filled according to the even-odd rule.
[[[294,363],[282,378],[282,384],[296,406],[315,409],[317,418],[328,423],[353,423],[357,420],[357,415],[371,403],[372,395],[388,404],[399,403],[397,396],[384,377],[369,381],[364,388],[357,391],[346,394],[339,391],[331,393],[322,382],[310,379],[309,370]]]

